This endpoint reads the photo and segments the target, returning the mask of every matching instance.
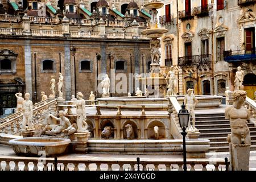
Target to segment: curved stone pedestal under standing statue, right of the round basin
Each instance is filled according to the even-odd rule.
[[[77,154],[87,154],[88,148],[88,138],[90,137],[90,132],[86,133],[75,133],[75,137],[77,138],[77,147],[75,151]]]

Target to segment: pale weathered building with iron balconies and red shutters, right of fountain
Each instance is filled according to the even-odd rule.
[[[160,23],[169,32],[162,38],[162,70],[177,66],[179,93],[193,88],[195,94],[224,96],[226,87],[234,90],[241,66],[244,89],[255,99],[256,1],[163,2]]]

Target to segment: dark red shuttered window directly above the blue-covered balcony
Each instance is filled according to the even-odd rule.
[[[251,53],[255,49],[255,28],[245,29],[245,50],[246,53]]]

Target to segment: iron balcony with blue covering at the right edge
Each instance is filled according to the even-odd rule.
[[[237,50],[237,51],[224,51],[224,60],[228,63],[239,62],[239,61],[255,61],[256,48],[252,49],[251,51]]]

